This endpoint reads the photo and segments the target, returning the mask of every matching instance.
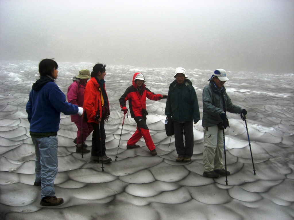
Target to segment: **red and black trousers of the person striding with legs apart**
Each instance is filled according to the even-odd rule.
[[[149,129],[146,125],[146,116],[144,118],[135,117],[134,119],[137,123],[137,130],[133,134],[133,136],[131,136],[131,138],[128,140],[127,145],[130,145],[130,146],[135,145],[143,136],[148,149],[149,150],[155,149],[155,145],[152,141],[151,135],[149,133]]]

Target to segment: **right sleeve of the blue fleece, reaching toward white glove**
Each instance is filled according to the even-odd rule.
[[[64,93],[56,85],[49,93],[49,101],[54,106],[56,111],[62,112],[65,115],[74,115],[78,113],[78,106],[68,103]]]

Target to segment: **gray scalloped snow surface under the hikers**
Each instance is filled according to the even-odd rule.
[[[57,84],[66,94],[78,70],[92,63],[59,62]],[[152,157],[143,138],[140,148],[126,150],[136,130],[125,119],[118,160],[123,114],[118,99],[131,85],[135,72],[146,77],[146,87],[167,94],[173,68],[107,66],[106,90],[111,116],[105,123],[106,154],[112,162],[88,163],[91,153],[75,153],[77,128],[61,114],[58,132],[59,173],[57,207],[40,206],[40,187],[34,186],[35,153],[29,136],[25,106],[38,78],[38,62],[1,62],[0,82],[0,219],[293,219],[294,218],[294,104],[293,74],[228,72],[225,86],[234,104],[248,111],[247,123],[228,113],[225,131],[227,165],[231,175],[210,179],[203,174],[203,128],[194,126],[191,163],[176,163],[174,138],[165,134],[165,100],[147,100],[147,124],[158,155]],[[198,96],[202,117],[202,90],[211,70],[187,70]],[[91,146],[91,135],[86,143]],[[91,148],[91,147],[90,147]]]

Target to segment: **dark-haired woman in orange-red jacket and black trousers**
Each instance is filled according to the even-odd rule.
[[[105,89],[106,65],[97,63],[91,72],[91,79],[87,82],[84,91],[85,109],[83,119],[93,127],[92,149],[90,163],[109,163],[111,158],[106,156],[104,121],[110,115],[109,102]],[[100,134],[101,133],[101,145]]]

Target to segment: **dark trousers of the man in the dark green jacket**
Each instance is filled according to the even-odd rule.
[[[193,121],[185,121],[183,123],[173,121],[173,128],[175,131],[177,154],[183,157],[192,157],[194,150]],[[183,135],[185,135],[186,147]]]

